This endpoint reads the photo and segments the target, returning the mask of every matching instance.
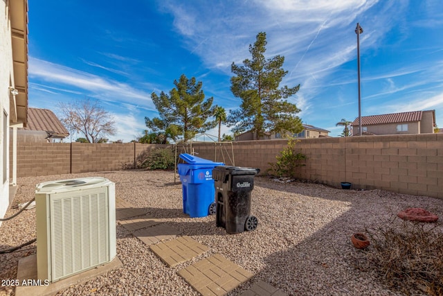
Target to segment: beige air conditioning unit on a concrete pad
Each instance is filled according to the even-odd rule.
[[[58,281],[116,256],[115,184],[102,177],[37,184],[37,277]]]

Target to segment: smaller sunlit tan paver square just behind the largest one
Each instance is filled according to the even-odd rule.
[[[150,245],[150,248],[169,267],[188,261],[209,250],[206,245],[202,245],[189,236],[181,236],[172,241]]]

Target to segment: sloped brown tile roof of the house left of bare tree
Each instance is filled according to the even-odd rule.
[[[48,109],[28,108],[28,126],[24,130],[43,130],[59,137],[68,137],[63,123]]]

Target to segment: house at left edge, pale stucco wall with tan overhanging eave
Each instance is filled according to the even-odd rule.
[[[3,218],[10,202],[10,178],[12,185],[17,182],[17,128],[26,127],[28,112],[27,0],[0,1],[0,53],[0,217]]]

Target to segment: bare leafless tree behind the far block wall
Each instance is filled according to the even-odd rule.
[[[89,143],[98,143],[106,135],[116,134],[116,121],[98,101],[89,98],[73,103],[59,103],[64,124],[84,135]]]

